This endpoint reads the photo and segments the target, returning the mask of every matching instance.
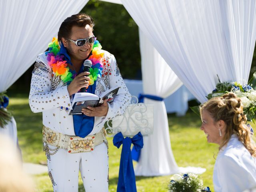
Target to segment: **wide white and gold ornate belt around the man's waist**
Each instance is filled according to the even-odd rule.
[[[94,147],[106,140],[106,130],[102,128],[100,132],[94,135],[88,135],[85,138],[78,136],[64,135],[55,132],[48,127],[43,127],[43,142],[52,146],[68,150],[69,153],[84,153],[94,150]],[[56,151],[57,151],[56,150]]]

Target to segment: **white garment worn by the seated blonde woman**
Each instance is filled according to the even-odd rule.
[[[256,158],[234,134],[218,154],[213,184],[215,192],[242,192],[256,186]]]

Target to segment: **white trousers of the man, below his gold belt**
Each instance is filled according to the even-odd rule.
[[[55,147],[49,145],[49,148]],[[86,192],[108,192],[108,148],[105,143],[84,153],[70,154],[59,149],[50,155],[50,160],[48,155],[47,162],[54,192],[78,192],[79,170]]]

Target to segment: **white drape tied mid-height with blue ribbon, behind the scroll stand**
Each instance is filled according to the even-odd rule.
[[[146,36],[141,31],[139,34],[143,93],[166,98],[180,88],[182,82]],[[154,104],[154,130],[152,135],[144,137],[135,174],[155,176],[177,173],[178,166],[172,154],[164,101],[145,98],[144,103]]]

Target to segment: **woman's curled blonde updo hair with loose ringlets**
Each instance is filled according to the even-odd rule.
[[[243,106],[240,98],[230,92],[222,97],[214,97],[200,106],[200,114],[206,110],[214,119],[214,122],[223,120],[226,123],[226,132],[219,149],[225,146],[231,135],[236,134],[253,157],[256,157],[256,145],[251,138],[250,128],[246,125],[246,115],[243,114]]]

